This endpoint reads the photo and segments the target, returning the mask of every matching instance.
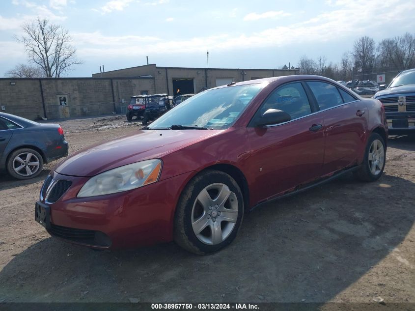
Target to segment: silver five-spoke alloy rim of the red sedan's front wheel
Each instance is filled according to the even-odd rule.
[[[223,242],[233,231],[238,219],[236,194],[222,183],[205,187],[192,208],[192,228],[197,239],[208,245]]]

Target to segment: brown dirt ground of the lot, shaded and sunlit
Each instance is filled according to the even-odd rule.
[[[136,131],[125,116],[58,121],[70,152]],[[244,217],[221,252],[174,243],[95,252],[34,221],[49,170],[0,176],[1,302],[415,302],[415,138],[389,139],[384,176],[346,175]],[[137,301],[137,300],[136,300]]]

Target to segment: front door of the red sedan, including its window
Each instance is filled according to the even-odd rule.
[[[307,183],[320,176],[324,156],[323,120],[310,106],[302,83],[278,86],[253,118],[268,109],[282,110],[291,121],[248,127],[249,168],[255,179],[253,203]]]

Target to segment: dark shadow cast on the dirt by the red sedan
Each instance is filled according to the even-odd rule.
[[[396,252],[414,225],[414,193],[415,184],[399,177],[360,183],[345,175],[255,209],[244,216],[236,240],[208,256],[189,254],[174,243],[94,252],[47,238],[3,268],[0,297],[6,302],[133,297],[324,303]]]

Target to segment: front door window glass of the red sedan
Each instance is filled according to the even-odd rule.
[[[310,104],[301,83],[290,83],[278,87],[265,100],[260,108],[260,114],[268,109],[278,109],[288,113],[291,119],[311,113]]]

